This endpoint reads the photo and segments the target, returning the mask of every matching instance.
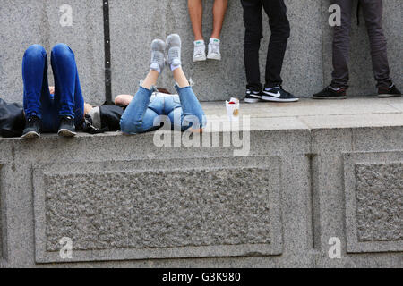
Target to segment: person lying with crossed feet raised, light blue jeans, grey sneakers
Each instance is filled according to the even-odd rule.
[[[174,73],[178,95],[154,94],[159,74],[167,64]],[[205,116],[193,88],[184,76],[181,63],[181,38],[174,34],[167,42],[155,39],[151,44],[150,72],[142,81],[134,97],[116,97],[116,105],[127,105],[122,115],[120,127],[124,134],[143,133],[158,130],[161,116],[167,116],[173,130],[201,130]],[[156,126],[158,125],[158,126]]]

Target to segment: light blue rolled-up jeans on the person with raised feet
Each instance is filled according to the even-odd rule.
[[[154,88],[140,87],[122,115],[122,132],[136,134],[158,130],[160,123],[165,122],[164,115],[172,130],[201,129],[205,125],[205,116],[193,88],[176,86],[176,90],[178,95],[153,96]]]

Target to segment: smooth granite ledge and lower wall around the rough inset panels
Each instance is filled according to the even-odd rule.
[[[0,259],[0,267],[401,268],[401,240],[357,239],[355,166],[398,164],[401,168],[402,99],[361,98],[346,102],[303,100],[287,108],[270,104],[248,105],[247,108],[241,106],[245,115],[254,114],[258,120],[250,133],[250,155],[245,157],[234,157],[235,147],[156,147],[152,132],[132,137],[121,133],[97,136],[79,133],[73,139],[45,134],[32,141],[0,139],[0,164],[3,164],[0,188],[4,198],[1,211],[2,218],[6,218],[3,224],[6,259]],[[206,114],[226,113],[224,105],[220,103],[202,105]],[[375,121],[375,115],[379,116],[378,119],[382,119],[382,116],[386,118],[386,115],[390,117],[379,122]],[[350,119],[347,120],[346,116],[350,116]],[[290,124],[289,119],[297,124]],[[214,133],[206,132],[202,137],[210,135]],[[270,214],[270,244],[74,250],[71,261],[61,259],[58,251],[47,251],[46,191],[53,193],[44,182],[44,174],[59,175],[67,184],[68,175],[77,173],[105,173],[109,179],[112,178],[109,174],[116,172],[150,175],[194,169],[206,172],[217,169],[270,170],[259,173],[259,177],[265,176],[263,186],[272,187],[268,204],[272,203],[273,206],[269,206],[269,211],[276,212]],[[373,178],[369,172],[368,176]],[[107,181],[106,178],[102,179],[102,188],[114,189],[114,181]],[[250,178],[250,175],[244,176],[246,182],[242,184],[249,186],[247,181]],[[385,181],[386,177],[382,175],[379,178]],[[86,183],[81,185],[85,186]],[[208,181],[203,183],[210,185]],[[110,184],[112,187],[109,188]],[[153,184],[156,189],[162,189],[157,183]],[[172,185],[175,186],[175,182]],[[222,187],[222,184],[219,185]],[[59,186],[59,182],[54,186]],[[85,195],[81,195],[74,189],[74,184],[62,187],[64,194],[78,194],[73,199],[97,198],[100,195],[88,188],[84,189]],[[100,201],[100,206],[122,201],[119,191],[116,191],[116,197],[104,191],[110,199]],[[124,191],[128,192],[126,189]],[[195,191],[199,194],[197,189]],[[244,189],[242,195],[247,196],[248,192],[250,189]],[[167,194],[166,190],[162,194]],[[188,192],[184,190],[181,194]],[[132,195],[127,196],[133,198],[130,197]],[[73,206],[73,199],[61,200],[60,206]],[[246,199],[241,204],[247,202]],[[390,204],[395,206],[394,203]],[[121,206],[118,210],[124,212],[124,203]],[[250,206],[248,214],[253,214],[253,207]],[[82,214],[89,211],[87,208],[81,209],[79,212]],[[94,209],[102,211],[97,206]],[[107,217],[115,218],[116,214],[108,211],[110,209],[106,210],[110,215]],[[57,211],[63,213],[63,209]],[[214,214],[219,211],[223,210],[214,210]],[[114,229],[124,228],[129,225],[125,221],[122,218],[122,227],[113,220],[107,225],[112,225]],[[89,226],[86,230],[90,230],[90,223],[87,219],[82,220],[82,225]],[[54,225],[57,226],[57,222]],[[69,227],[62,226],[64,229]],[[82,231],[80,227],[81,224],[78,230],[73,231]],[[261,231],[268,232],[267,229]],[[330,259],[328,255],[329,240],[334,237],[341,240],[340,259]],[[90,248],[90,243],[86,244],[88,241],[81,241],[84,241],[81,245]],[[56,248],[52,242],[48,245]]]

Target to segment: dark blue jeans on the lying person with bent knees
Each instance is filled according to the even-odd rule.
[[[71,48],[64,44],[56,45],[52,49],[51,65],[55,95],[49,92],[45,49],[39,45],[30,46],[22,60],[25,116],[38,116],[42,132],[57,132],[60,117],[71,116],[77,126],[84,116],[84,98]]]

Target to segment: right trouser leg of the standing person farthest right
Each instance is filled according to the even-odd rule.
[[[361,0],[361,5],[371,44],[373,74],[377,87],[390,88],[393,83],[390,79],[387,43],[382,29],[382,0]]]

